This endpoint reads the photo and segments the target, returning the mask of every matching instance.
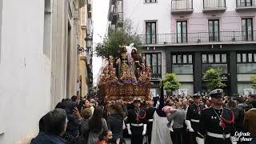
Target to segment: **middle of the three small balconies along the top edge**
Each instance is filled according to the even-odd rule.
[[[226,11],[226,0],[203,0],[202,12],[223,12]]]

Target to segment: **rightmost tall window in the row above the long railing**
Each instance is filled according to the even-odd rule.
[[[242,40],[252,41],[253,40],[253,19],[242,18]]]

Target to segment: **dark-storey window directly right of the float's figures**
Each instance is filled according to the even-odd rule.
[[[162,55],[160,53],[143,54],[146,58],[146,66],[151,66],[152,77],[161,78],[162,74]]]

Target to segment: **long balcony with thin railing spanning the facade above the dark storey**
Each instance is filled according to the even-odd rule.
[[[181,37],[182,35],[182,37]],[[256,30],[249,33],[242,31],[220,31],[218,33],[198,32],[187,34],[140,34],[144,46],[156,45],[205,45],[230,43],[256,43]],[[149,39],[151,38],[151,39]],[[153,38],[153,39],[152,39]]]

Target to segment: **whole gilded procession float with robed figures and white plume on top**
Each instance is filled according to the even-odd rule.
[[[102,71],[99,89],[103,91],[101,99],[105,102],[132,102],[134,98],[150,101],[150,82],[152,70],[146,66],[145,58],[141,58],[137,49],[121,46],[118,57],[110,56],[108,64]]]

